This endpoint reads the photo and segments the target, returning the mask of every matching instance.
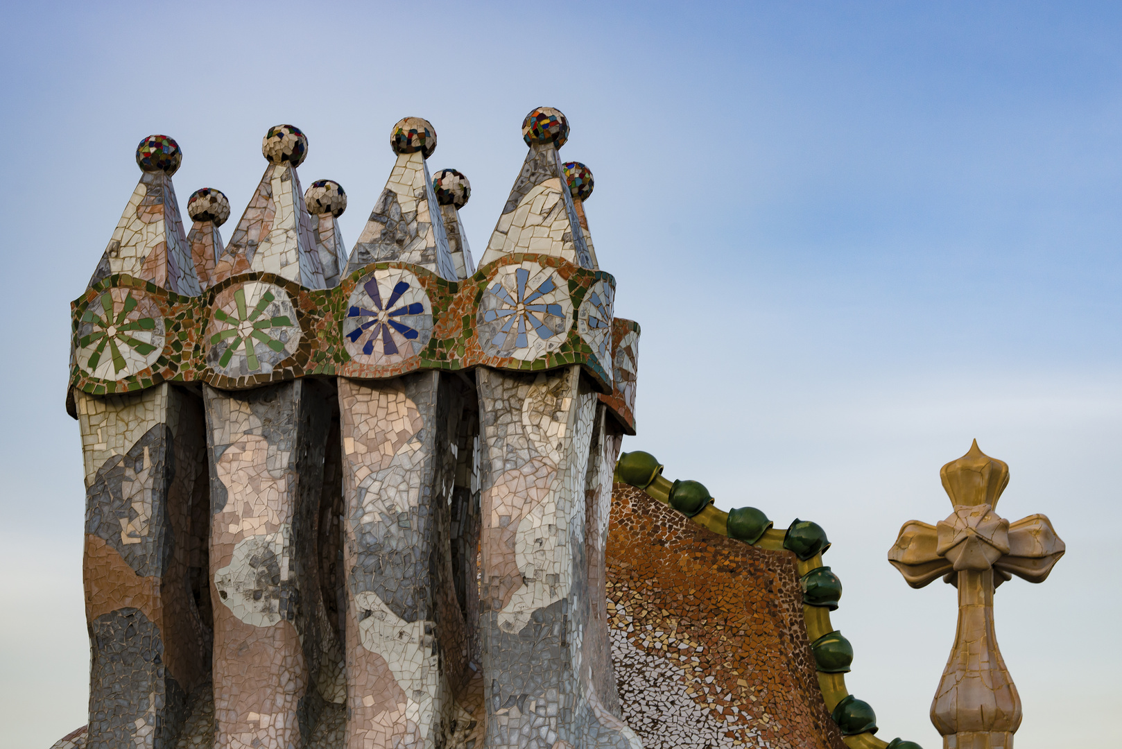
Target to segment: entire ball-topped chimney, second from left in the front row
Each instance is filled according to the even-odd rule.
[[[294,303],[301,287],[324,287],[296,174],[307,138],[280,125],[261,152],[268,166],[227,248],[260,275],[217,275],[204,335],[214,720],[218,746],[230,749],[298,746],[342,698],[318,554],[334,387],[272,382],[310,345]]]

